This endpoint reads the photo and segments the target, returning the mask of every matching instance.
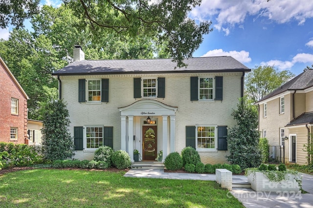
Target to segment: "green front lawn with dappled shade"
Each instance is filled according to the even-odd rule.
[[[240,207],[214,181],[126,178],[125,172],[33,169],[0,175],[0,207]]]

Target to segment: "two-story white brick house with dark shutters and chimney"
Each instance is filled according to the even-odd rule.
[[[232,57],[185,59],[84,60],[80,46],[74,62],[53,75],[67,103],[75,158],[91,160],[101,145],[133,150],[155,161],[163,151],[195,147],[203,163],[225,163],[227,126],[243,96],[245,65]]]

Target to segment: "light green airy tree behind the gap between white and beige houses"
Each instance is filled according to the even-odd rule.
[[[256,66],[246,76],[245,93],[253,103],[288,82],[294,74],[288,70],[278,71],[274,66]]]

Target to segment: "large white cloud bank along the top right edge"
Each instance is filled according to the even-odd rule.
[[[217,22],[214,27],[220,31],[224,25],[234,26],[244,22],[247,15],[278,23],[295,20],[301,25],[306,19],[313,18],[312,11],[313,0],[202,0],[190,16],[200,21]]]

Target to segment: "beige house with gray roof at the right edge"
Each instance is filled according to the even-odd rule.
[[[285,162],[308,163],[304,144],[313,130],[313,70],[306,70],[256,103],[259,130],[271,146],[285,146]]]

